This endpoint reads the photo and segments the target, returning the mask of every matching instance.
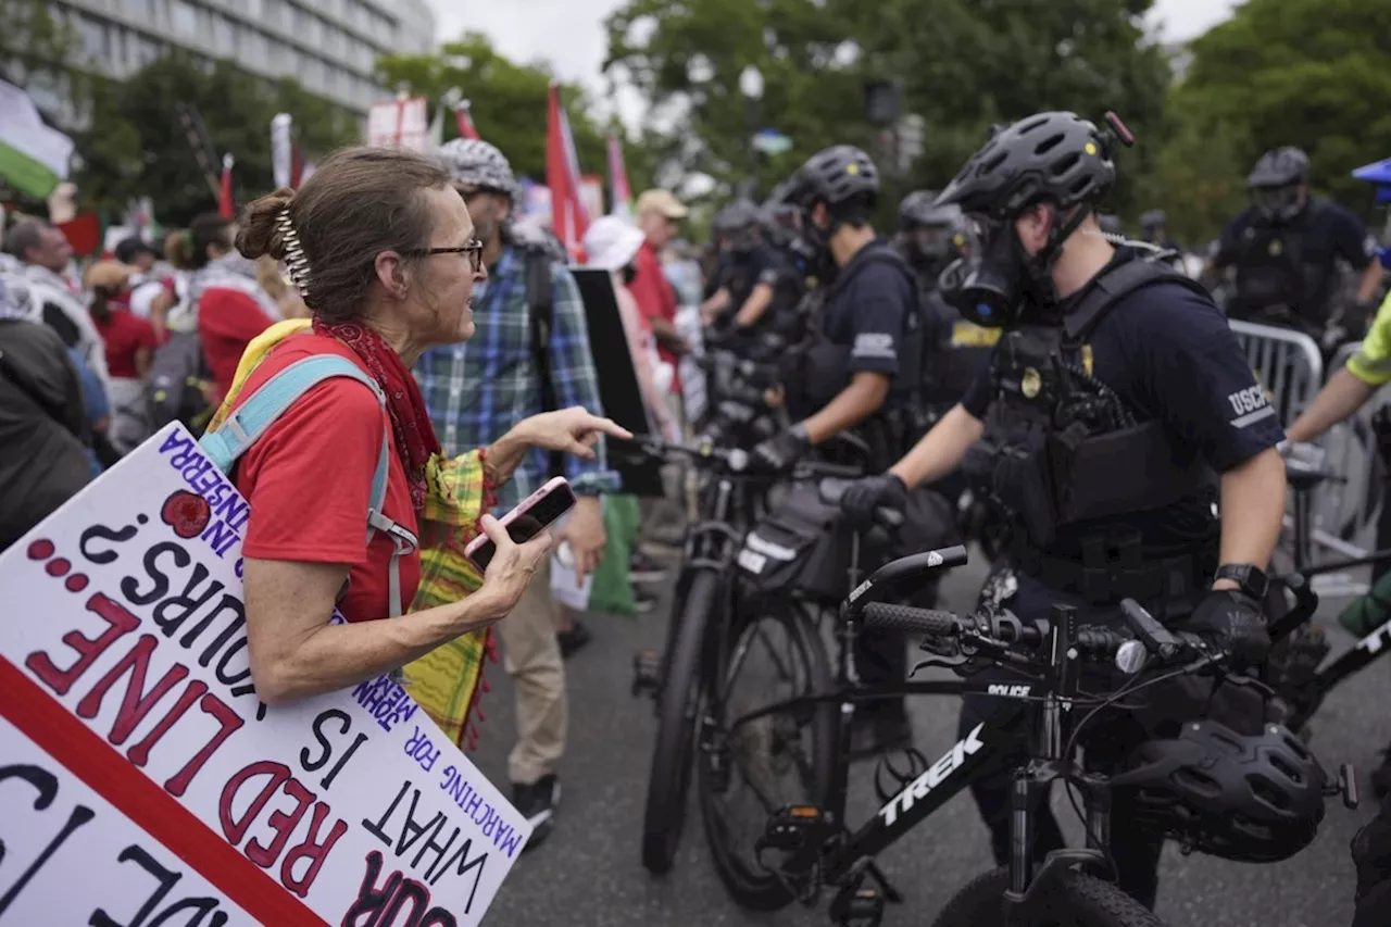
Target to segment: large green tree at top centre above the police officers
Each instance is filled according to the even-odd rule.
[[[887,154],[865,122],[864,86],[894,79],[903,111],[928,125],[926,150],[899,187],[942,187],[992,122],[1042,109],[1136,132],[1159,121],[1167,64],[1142,29],[1150,0],[629,0],[608,19],[606,67],[622,68],[654,110],[686,102],[683,166],[726,182],[746,174],[748,128],[739,75],[764,75],[762,122],[793,139],[769,163],[786,175],[818,149],[849,142]],[[1142,157],[1135,159],[1136,173]],[[892,170],[887,170],[890,175]],[[1117,195],[1128,198],[1123,185]]]

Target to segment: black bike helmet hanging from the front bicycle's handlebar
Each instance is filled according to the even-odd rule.
[[[1323,821],[1326,784],[1287,728],[1241,735],[1212,720],[1141,745],[1110,779],[1141,827],[1245,863],[1274,863],[1308,846]]]

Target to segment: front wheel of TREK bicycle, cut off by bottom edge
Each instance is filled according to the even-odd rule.
[[[1010,870],[978,876],[942,909],[933,927],[996,927],[1004,924],[1004,891]],[[1057,876],[1040,892],[1028,927],[1164,927],[1163,921],[1116,885],[1077,871]]]

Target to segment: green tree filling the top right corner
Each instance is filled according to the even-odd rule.
[[[1309,153],[1316,189],[1372,213],[1351,171],[1391,153],[1391,0],[1249,0],[1189,50],[1170,99],[1182,131],[1155,184],[1171,219],[1216,235],[1251,166],[1281,145]]]

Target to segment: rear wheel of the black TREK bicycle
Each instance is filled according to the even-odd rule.
[[[722,643],[718,670],[708,674],[708,725],[697,766],[705,843],[736,902],[754,910],[776,910],[794,894],[780,876],[762,867],[754,841],[775,811],[789,805],[822,803],[835,766],[836,706],[823,702],[769,714],[733,731],[726,725],[773,702],[828,692],[830,661],[815,622],[789,603],[739,622]],[[743,692],[768,681],[776,692],[751,697]],[[743,788],[754,802],[737,800]]]

